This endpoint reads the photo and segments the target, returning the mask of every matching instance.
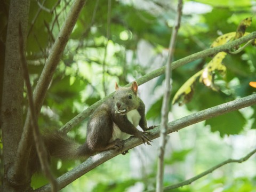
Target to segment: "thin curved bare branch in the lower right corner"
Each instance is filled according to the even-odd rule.
[[[211,167],[209,170],[206,170],[203,173],[200,173],[200,174],[196,175],[193,178],[190,178],[190,179],[188,179],[186,181],[182,181],[182,182],[179,182],[179,183],[171,185],[171,186],[164,187],[164,191],[165,190],[179,188],[179,187],[182,187],[182,186],[185,186],[185,185],[189,185],[192,182],[196,181],[197,179],[200,179],[200,178],[204,177],[205,175],[213,172],[214,170],[219,169],[221,166],[226,165],[228,163],[243,163],[243,162],[247,161],[255,153],[256,153],[256,149],[252,150],[249,154],[247,154],[243,158],[240,158],[240,159],[228,159],[226,161],[223,161],[222,163],[219,163],[218,165],[215,165],[215,166]],[[155,190],[147,190],[145,192],[153,192],[153,191],[155,191]]]

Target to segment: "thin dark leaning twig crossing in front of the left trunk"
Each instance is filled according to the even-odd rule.
[[[29,101],[29,110],[31,114],[31,128],[33,129],[33,135],[36,145],[37,154],[39,157],[39,161],[41,163],[41,167],[43,170],[43,173],[45,174],[46,178],[49,179],[52,187],[52,192],[57,191],[57,182],[55,178],[53,177],[49,163],[47,161],[47,151],[45,149],[44,142],[42,140],[42,137],[39,133],[38,124],[37,124],[37,118],[36,118],[36,112],[35,112],[35,106],[33,102],[33,93],[31,84],[29,81],[29,74],[28,74],[28,67],[27,67],[27,61],[25,58],[25,53],[23,52],[23,36],[22,36],[22,29],[21,29],[21,23],[19,23],[19,51],[20,51],[20,60],[21,60],[21,66],[22,66],[22,72],[25,79],[25,84],[27,87],[27,93],[28,93],[28,101]]]

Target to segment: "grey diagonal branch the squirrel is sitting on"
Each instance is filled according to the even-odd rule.
[[[244,98],[239,98],[234,101],[223,103],[221,105],[214,106],[214,107],[199,111],[197,113],[182,117],[175,121],[169,122],[167,133],[176,132],[189,125],[193,125],[195,123],[204,121],[206,119],[217,117],[219,115],[223,115],[244,107],[249,107],[254,104],[256,104],[256,94],[252,94]],[[149,130],[148,134],[150,139],[158,138],[160,134],[160,127],[158,126],[158,127],[155,127],[155,129],[153,130]],[[141,139],[131,137],[124,141],[123,151],[129,150],[141,144],[142,144]],[[58,187],[59,187],[58,189],[62,189],[63,187],[67,186],[69,183],[73,182],[74,180],[81,177],[85,173],[91,171],[98,165],[121,154],[123,151],[118,152],[118,151],[108,150],[108,151],[103,151],[97,155],[89,157],[85,162],[74,167],[73,170],[57,178]],[[50,185],[47,184],[41,188],[36,189],[35,191],[36,192],[50,191]]]

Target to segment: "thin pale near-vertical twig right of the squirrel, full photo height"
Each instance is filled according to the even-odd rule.
[[[165,146],[167,142],[167,123],[168,123],[168,115],[169,115],[169,103],[170,103],[170,95],[171,95],[171,78],[172,78],[172,68],[171,63],[173,60],[173,53],[175,47],[175,40],[178,35],[178,30],[180,28],[180,21],[182,15],[182,0],[178,2],[178,12],[177,18],[175,20],[175,25],[172,28],[172,37],[170,39],[169,45],[169,53],[167,58],[167,65],[165,70],[165,92],[162,104],[162,119],[161,119],[161,137],[159,141],[159,156],[158,156],[158,164],[157,164],[157,182],[156,182],[156,191],[163,191],[164,184],[164,154],[165,154]]]

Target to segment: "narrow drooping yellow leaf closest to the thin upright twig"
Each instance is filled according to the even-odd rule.
[[[179,102],[179,106],[182,106],[183,104],[188,103],[192,99],[196,79],[202,74],[202,71],[203,70],[198,71],[180,87],[180,89],[173,97],[172,104]]]

